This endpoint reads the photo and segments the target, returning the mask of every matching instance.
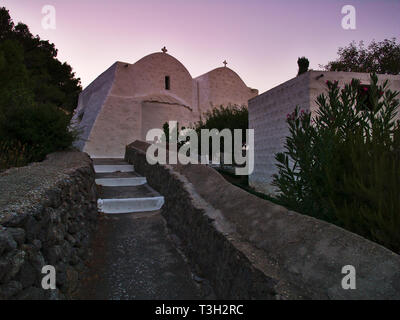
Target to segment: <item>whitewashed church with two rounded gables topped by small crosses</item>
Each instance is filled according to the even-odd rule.
[[[165,47],[134,64],[115,62],[79,96],[72,120],[81,130],[77,147],[94,158],[123,157],[127,144],[167,121],[189,126],[213,107],[247,105],[258,90],[224,63],[192,78]]]

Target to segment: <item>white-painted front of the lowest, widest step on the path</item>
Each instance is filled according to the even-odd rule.
[[[106,214],[134,213],[160,210],[164,197],[99,199],[97,207]]]

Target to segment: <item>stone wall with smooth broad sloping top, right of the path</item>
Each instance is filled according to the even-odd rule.
[[[125,159],[165,198],[169,228],[222,299],[400,299],[400,256],[228,183],[204,165],[154,165],[147,144]],[[344,290],[342,268],[356,268]]]

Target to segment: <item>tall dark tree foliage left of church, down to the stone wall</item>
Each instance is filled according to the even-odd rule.
[[[0,170],[71,146],[71,111],[81,91],[72,68],[0,8]]]

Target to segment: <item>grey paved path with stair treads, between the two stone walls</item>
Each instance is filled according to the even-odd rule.
[[[94,165],[98,171],[98,165],[126,166],[127,164],[122,160],[95,159]],[[100,197],[104,199],[161,197],[147,184],[142,183],[143,177],[132,170],[127,171],[96,173],[96,179],[116,177],[142,179],[141,182],[136,181],[140,182],[137,186],[103,185],[100,187]],[[97,183],[99,182],[107,184],[104,180],[97,180]],[[130,180],[131,184],[136,182]],[[147,204],[144,208],[150,207]],[[196,277],[192,276],[188,264],[172,241],[160,210],[101,215],[99,227],[93,237],[91,252],[89,270],[75,295],[76,299],[212,297],[211,290],[193,280]]]

